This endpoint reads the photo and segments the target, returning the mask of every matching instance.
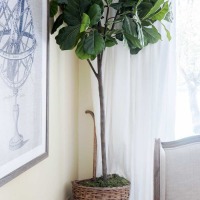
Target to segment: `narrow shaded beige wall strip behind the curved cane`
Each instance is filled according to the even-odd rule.
[[[86,110],[93,110],[90,67],[86,61],[79,61],[79,179],[92,178],[94,123]]]

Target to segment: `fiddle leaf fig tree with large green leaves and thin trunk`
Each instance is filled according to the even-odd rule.
[[[168,39],[169,31],[162,23],[171,22],[169,0],[52,0],[50,15],[57,18],[52,34],[60,28],[56,42],[61,50],[75,48],[76,55],[89,63],[99,86],[102,174],[107,178],[105,146],[105,110],[102,83],[104,50],[120,41],[127,43],[131,54],[161,40],[154,26],[160,22]],[[96,59],[97,71],[91,60]]]

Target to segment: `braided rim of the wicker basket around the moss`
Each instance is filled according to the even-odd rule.
[[[73,186],[78,186],[80,188],[87,188],[87,189],[95,189],[95,190],[116,190],[116,189],[130,189],[131,183],[129,185],[126,186],[121,186],[121,187],[87,187],[87,186],[83,186],[80,185],[79,183],[81,181],[87,181],[87,180],[91,180],[91,179],[83,179],[83,180],[74,180],[72,181],[72,185]]]

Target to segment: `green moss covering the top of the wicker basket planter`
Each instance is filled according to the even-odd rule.
[[[123,187],[130,185],[130,182],[117,174],[109,175],[106,180],[103,177],[81,181],[80,184],[86,187]]]

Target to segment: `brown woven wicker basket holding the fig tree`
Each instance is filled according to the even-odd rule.
[[[130,186],[115,188],[85,187],[72,182],[73,200],[128,200]]]

